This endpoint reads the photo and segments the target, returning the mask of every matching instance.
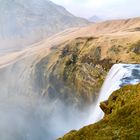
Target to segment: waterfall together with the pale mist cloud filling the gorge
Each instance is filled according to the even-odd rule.
[[[54,140],[70,130],[100,120],[103,117],[99,107],[101,101],[107,100],[121,86],[140,82],[140,64],[115,64],[92,106],[94,110],[84,112],[58,99],[41,98],[32,86],[37,74],[32,73],[36,57],[29,59],[0,69],[0,140]]]

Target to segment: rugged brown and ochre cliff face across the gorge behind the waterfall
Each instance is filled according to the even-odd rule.
[[[140,61],[139,40],[128,43],[130,37],[111,37],[79,37],[53,46],[36,65],[35,84],[45,96],[67,104],[82,107],[93,103],[113,64]]]

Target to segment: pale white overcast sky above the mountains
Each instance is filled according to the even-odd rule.
[[[51,0],[76,16],[129,18],[140,16],[140,0]]]

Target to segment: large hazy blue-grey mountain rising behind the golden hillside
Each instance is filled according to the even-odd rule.
[[[87,24],[49,0],[0,0],[0,49],[21,47]]]

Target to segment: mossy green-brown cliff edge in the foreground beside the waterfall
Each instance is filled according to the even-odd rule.
[[[98,123],[71,131],[60,140],[137,140],[140,138],[140,84],[115,91],[100,107],[105,113]]]

